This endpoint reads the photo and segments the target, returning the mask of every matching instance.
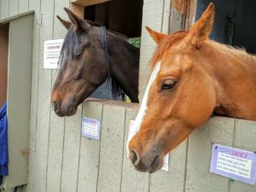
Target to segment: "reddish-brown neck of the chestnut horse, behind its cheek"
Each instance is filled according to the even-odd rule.
[[[215,113],[256,120],[256,57],[209,42],[205,58],[215,82]]]

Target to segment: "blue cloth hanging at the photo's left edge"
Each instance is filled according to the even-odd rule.
[[[0,176],[8,175],[7,102],[0,109]]]

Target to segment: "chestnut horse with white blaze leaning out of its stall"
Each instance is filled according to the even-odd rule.
[[[153,72],[127,143],[138,171],[158,171],[165,154],[212,113],[256,120],[256,57],[209,40],[213,19],[211,3],[188,32],[148,28],[157,43]]]

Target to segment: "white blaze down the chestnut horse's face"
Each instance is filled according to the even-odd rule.
[[[150,75],[150,78],[149,78],[149,81],[148,81],[148,86],[147,86],[147,89],[146,89],[146,91],[144,93],[144,96],[143,96],[142,105],[139,109],[139,112],[137,113],[137,117],[135,119],[135,122],[134,122],[133,126],[130,127],[128,140],[127,140],[127,143],[126,143],[126,150],[127,150],[127,155],[128,156],[129,156],[129,143],[131,141],[131,138],[134,137],[141,128],[144,116],[147,113],[147,109],[148,109],[148,91],[150,90],[151,85],[154,83],[154,79],[156,79],[157,74],[159,73],[159,71],[160,71],[160,61],[155,65],[154,70]]]

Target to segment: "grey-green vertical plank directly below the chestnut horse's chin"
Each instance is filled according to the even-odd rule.
[[[150,191],[183,192],[186,172],[188,141],[185,140],[169,156],[169,171],[159,171],[150,175]]]

